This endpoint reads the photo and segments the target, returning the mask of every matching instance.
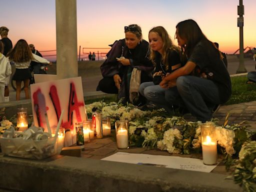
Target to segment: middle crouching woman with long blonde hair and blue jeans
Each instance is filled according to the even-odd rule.
[[[167,31],[162,26],[153,27],[149,30],[148,40],[150,45],[150,59],[155,65],[153,74],[153,81],[143,82],[139,86],[139,92],[149,103],[157,104],[157,108],[165,108],[167,112],[169,108],[166,108],[166,101],[159,98],[164,97],[165,89],[159,86],[162,78],[169,73],[173,72],[181,66],[179,48],[175,46]],[[162,96],[159,96],[161,94]],[[177,95],[178,96],[178,95]],[[146,104],[146,107],[154,106]]]

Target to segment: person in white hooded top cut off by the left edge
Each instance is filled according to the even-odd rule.
[[[0,41],[0,102],[4,102],[4,87],[9,84],[11,74],[10,62],[2,53],[3,43]]]

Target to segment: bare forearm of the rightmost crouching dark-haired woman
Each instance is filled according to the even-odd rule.
[[[175,80],[177,77],[179,76],[183,76],[183,75],[188,75],[190,74],[194,67],[196,66],[196,64],[192,61],[187,61],[186,64],[178,69],[176,69],[175,71],[173,71],[172,73],[170,73],[169,75],[165,76],[162,81],[159,83],[159,85],[162,88],[168,88],[171,86],[168,86],[168,81],[173,81]]]

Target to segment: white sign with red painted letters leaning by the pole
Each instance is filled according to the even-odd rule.
[[[47,79],[47,74],[44,78]],[[47,131],[47,115],[50,128],[56,127],[62,109],[61,127],[65,129],[75,132],[75,122],[87,120],[81,77],[31,84],[30,91],[35,126]]]

